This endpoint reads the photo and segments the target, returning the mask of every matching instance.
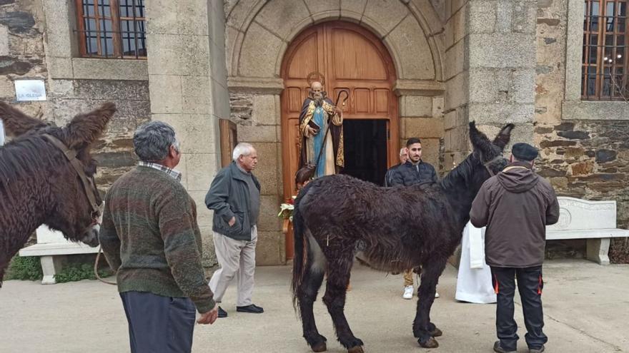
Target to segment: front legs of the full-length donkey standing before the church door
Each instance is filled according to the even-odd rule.
[[[435,301],[435,291],[439,276],[445,268],[447,259],[430,259],[422,267],[422,282],[417,290],[417,314],[413,321],[413,334],[417,337],[417,342],[424,348],[439,347],[439,343],[434,337],[442,334],[435,324],[430,322],[430,308]]]

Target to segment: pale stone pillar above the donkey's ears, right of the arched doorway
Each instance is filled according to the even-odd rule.
[[[537,3],[467,3],[468,118],[487,135],[515,123],[511,140],[533,142]]]

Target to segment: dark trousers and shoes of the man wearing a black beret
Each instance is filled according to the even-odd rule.
[[[548,341],[542,331],[544,314],[542,310],[542,267],[491,267],[492,282],[497,297],[496,331],[500,347],[507,351],[517,349],[517,324],[513,319],[513,295],[515,295],[515,277],[517,290],[522,300],[524,324],[527,334],[526,344],[530,349],[539,349]]]

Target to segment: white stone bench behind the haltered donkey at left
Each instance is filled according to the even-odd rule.
[[[82,242],[71,242],[61,232],[51,230],[47,225],[40,225],[36,230],[37,244],[19,251],[20,256],[39,256],[41,270],[44,272],[42,285],[54,285],[54,275],[61,270],[61,260],[65,255],[94,254],[98,247],[90,247]]]

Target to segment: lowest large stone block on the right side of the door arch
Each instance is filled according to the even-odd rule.
[[[396,49],[399,56],[401,67],[398,68],[398,78],[435,79],[435,63],[432,61],[430,46],[415,17],[407,16],[384,40]]]

